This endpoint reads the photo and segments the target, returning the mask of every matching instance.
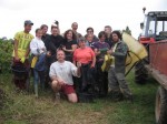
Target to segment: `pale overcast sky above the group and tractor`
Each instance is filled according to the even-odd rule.
[[[78,22],[78,32],[82,34],[88,27],[98,34],[105,25],[114,30],[128,25],[137,38],[144,20],[143,7],[147,8],[146,12],[167,11],[166,4],[167,0],[0,0],[0,38],[13,38],[23,30],[24,20],[35,23],[32,34],[41,24],[50,27],[58,20],[61,33],[70,29],[72,22]]]

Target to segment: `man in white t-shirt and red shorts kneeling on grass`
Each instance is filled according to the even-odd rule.
[[[57,62],[53,62],[50,66],[49,75],[52,80],[51,87],[56,94],[56,101],[60,100],[59,92],[62,91],[72,103],[77,103],[77,94],[73,90],[73,76],[80,76],[80,63],[77,66],[69,61],[65,61],[65,52],[62,50],[57,51]]]

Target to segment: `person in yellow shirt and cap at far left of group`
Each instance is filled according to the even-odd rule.
[[[30,42],[33,39],[33,35],[30,34],[33,23],[30,20],[24,21],[24,30],[17,32],[14,35],[14,48],[13,48],[13,65],[20,65],[29,68],[28,56],[30,52]],[[26,73],[24,79],[21,81],[17,78],[13,79],[17,87],[23,90],[26,89],[26,82],[28,80],[28,73]]]

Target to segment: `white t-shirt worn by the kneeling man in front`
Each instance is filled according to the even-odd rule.
[[[65,61],[63,63],[58,61],[53,62],[50,66],[49,75],[50,78],[57,76],[58,79],[63,80],[68,85],[73,85],[72,75],[78,76],[76,65],[69,61]]]

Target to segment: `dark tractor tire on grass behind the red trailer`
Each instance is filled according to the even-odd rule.
[[[135,82],[145,84],[148,79],[148,71],[145,68],[145,62],[139,61],[135,66]]]

